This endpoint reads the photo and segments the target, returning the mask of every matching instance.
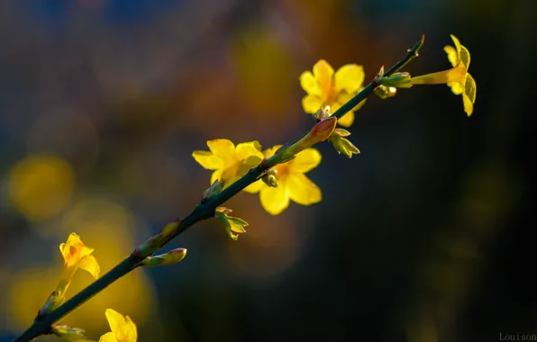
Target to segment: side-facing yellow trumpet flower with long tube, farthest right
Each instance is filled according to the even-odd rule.
[[[462,94],[464,112],[470,116],[474,111],[477,87],[474,77],[468,73],[470,63],[469,50],[463,45],[460,45],[460,41],[452,34],[451,39],[455,47],[453,48],[448,45],[444,47],[444,51],[448,54],[448,59],[453,67],[445,71],[412,77],[412,84],[439,85],[445,83],[449,85],[453,94]]]

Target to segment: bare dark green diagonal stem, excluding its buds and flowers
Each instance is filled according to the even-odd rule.
[[[390,67],[388,69],[388,71],[385,73],[385,76],[390,76],[396,73],[396,71],[399,70],[401,67],[405,67],[406,63],[417,57],[417,52],[422,47],[422,45],[423,37],[422,40],[418,41],[418,43],[414,46],[413,49],[408,50],[408,53],[406,54],[405,58],[399,60],[393,67]],[[367,85],[359,94],[354,96],[352,99],[350,99],[348,103],[343,104],[339,110],[334,112],[333,116],[341,117],[341,115],[343,115],[344,113],[349,112],[358,103],[365,100],[366,97],[369,96],[369,94],[373,93],[377,86],[378,84],[375,82],[375,80],[373,80],[373,82]],[[213,197],[211,197],[210,199],[208,199],[208,201],[204,203],[197,204],[194,211],[192,211],[190,214],[188,214],[187,217],[181,220],[177,232],[174,235],[174,238],[177,237],[177,235],[181,234],[183,231],[187,230],[190,226],[194,225],[196,222],[214,217],[214,211],[218,206],[222,205],[224,202],[232,198],[235,194],[240,193],[241,190],[244,189],[246,186],[259,180],[259,178],[264,175],[270,167],[276,166],[280,162],[279,159],[280,157],[278,155],[274,155],[272,157],[269,157],[268,159],[263,160],[261,164],[259,164],[259,166],[250,169],[250,171],[246,175],[243,175],[241,179],[231,184],[221,193],[215,194]],[[169,240],[171,240],[171,238]],[[28,342],[31,341],[33,338],[37,338],[41,335],[50,334],[50,327],[52,326],[52,324],[54,324],[58,320],[61,320],[69,312],[77,309],[78,306],[88,301],[97,293],[100,293],[101,291],[105,290],[108,285],[113,284],[123,275],[126,275],[131,272],[133,269],[139,266],[140,262],[141,257],[139,256],[139,254],[132,253],[131,256],[124,259],[119,265],[115,266],[108,273],[97,279],[96,282],[90,284],[84,290],[69,299],[67,302],[63,303],[61,306],[59,306],[58,309],[42,316],[39,320],[35,320],[32,326],[26,331],[24,331],[23,335],[21,335],[19,338],[16,338],[14,342]]]

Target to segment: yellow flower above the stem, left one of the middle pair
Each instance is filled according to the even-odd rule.
[[[242,142],[235,147],[228,139],[214,139],[207,141],[207,146],[211,151],[194,151],[192,157],[205,169],[214,170],[211,184],[222,180],[224,187],[228,187],[263,159],[257,140]]]

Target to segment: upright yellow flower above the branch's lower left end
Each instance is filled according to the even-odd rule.
[[[64,272],[68,279],[77,271],[77,268],[86,270],[95,278],[99,277],[101,268],[96,257],[91,256],[94,249],[86,247],[77,234],[69,234],[67,242],[59,245],[59,251],[65,261]]]

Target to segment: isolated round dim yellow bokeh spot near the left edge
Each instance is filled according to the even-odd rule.
[[[28,220],[47,220],[67,206],[75,182],[73,168],[64,159],[31,155],[9,172],[9,199]]]

